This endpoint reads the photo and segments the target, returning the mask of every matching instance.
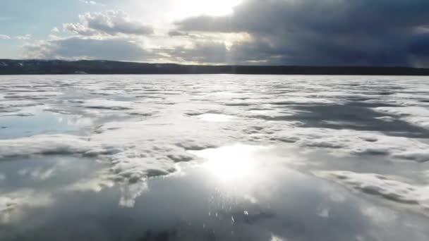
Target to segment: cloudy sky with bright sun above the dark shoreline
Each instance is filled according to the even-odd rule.
[[[0,0],[0,58],[429,68],[428,0]]]

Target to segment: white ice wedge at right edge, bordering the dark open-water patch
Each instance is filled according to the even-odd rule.
[[[398,116],[401,120],[429,129],[429,109],[423,106],[408,107],[377,107],[373,109],[380,113]]]

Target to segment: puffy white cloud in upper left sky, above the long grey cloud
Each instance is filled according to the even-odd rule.
[[[80,23],[65,23],[64,29],[77,35],[151,35],[152,27],[131,20],[123,11],[85,13],[79,16]]]

